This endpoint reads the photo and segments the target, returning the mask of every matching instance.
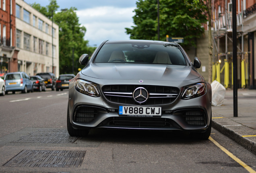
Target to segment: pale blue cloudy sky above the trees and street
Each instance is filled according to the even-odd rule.
[[[41,6],[50,4],[50,0],[24,0]],[[90,46],[99,45],[104,40],[129,39],[124,28],[133,26],[133,10],[136,0],[57,0],[60,9],[75,7],[79,23],[87,29],[85,40]]]

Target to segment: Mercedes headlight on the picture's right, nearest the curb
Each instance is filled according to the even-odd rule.
[[[192,99],[200,97],[206,93],[206,86],[204,83],[197,83],[185,87],[181,99]]]

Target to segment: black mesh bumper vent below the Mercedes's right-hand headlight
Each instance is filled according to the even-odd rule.
[[[186,111],[183,117],[189,125],[206,125],[203,111]]]

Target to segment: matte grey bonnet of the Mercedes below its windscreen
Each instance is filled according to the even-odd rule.
[[[164,64],[91,63],[81,73],[99,79],[184,81],[200,77],[191,66]]]

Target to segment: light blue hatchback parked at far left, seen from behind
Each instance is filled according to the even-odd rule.
[[[33,82],[25,72],[9,72],[4,76],[6,91],[21,91],[22,93],[33,92]]]

